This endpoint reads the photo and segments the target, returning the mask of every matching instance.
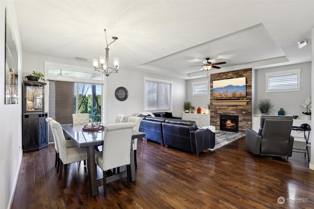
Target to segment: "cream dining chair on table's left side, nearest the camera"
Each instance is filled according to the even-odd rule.
[[[50,121],[50,125],[52,127],[52,131],[54,132],[55,138],[58,143],[59,148],[59,158],[60,158],[60,172],[59,172],[59,179],[62,177],[62,165],[64,165],[64,182],[63,188],[67,186],[67,179],[68,179],[68,164],[85,161],[87,160],[87,153],[86,149],[82,149],[79,147],[72,147],[67,148],[66,140],[63,134],[62,127],[60,123],[55,120]]]

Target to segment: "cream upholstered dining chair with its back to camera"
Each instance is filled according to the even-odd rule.
[[[104,195],[106,190],[106,170],[127,165],[128,188],[131,186],[131,140],[134,123],[116,123],[105,126],[103,151],[95,153],[96,164],[103,169]]]

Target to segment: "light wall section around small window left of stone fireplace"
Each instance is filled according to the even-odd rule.
[[[210,76],[210,75],[209,75]],[[199,81],[208,81],[208,95],[192,96],[192,83]],[[206,110],[208,113],[208,106],[210,100],[210,77],[197,78],[186,80],[186,101],[191,102],[191,106],[195,107],[194,112],[197,113],[197,108],[201,107],[202,113]],[[183,104],[182,104],[183,107]]]

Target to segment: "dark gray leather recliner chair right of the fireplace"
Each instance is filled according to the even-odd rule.
[[[254,155],[291,157],[292,120],[292,116],[262,116],[259,133],[246,129],[246,148]]]

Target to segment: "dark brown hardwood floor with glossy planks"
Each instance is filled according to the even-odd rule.
[[[314,170],[298,157],[267,159],[252,155],[239,139],[199,157],[138,140],[137,180],[103,186],[88,193],[86,167],[69,166],[67,188],[54,167],[54,146],[24,153],[12,209],[310,209],[314,207]],[[102,171],[98,170],[98,178]],[[278,198],[285,203],[279,204]],[[283,200],[283,199],[281,199]]]

